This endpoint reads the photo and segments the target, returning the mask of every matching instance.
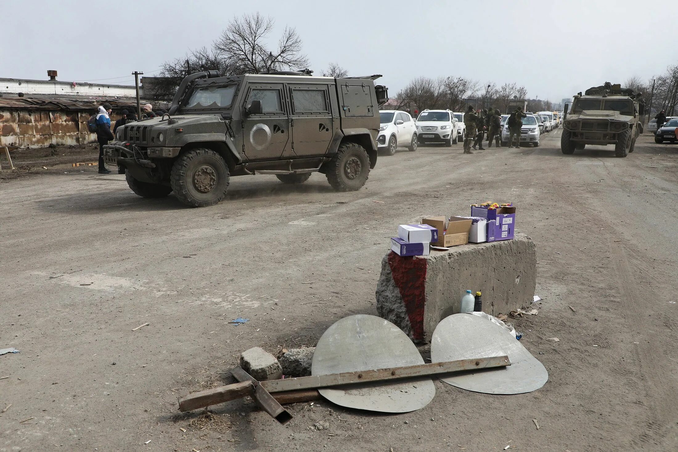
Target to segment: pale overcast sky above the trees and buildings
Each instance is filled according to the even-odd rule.
[[[294,26],[317,74],[382,74],[391,97],[410,79],[515,82],[560,102],[678,64],[678,7],[637,0],[200,1],[3,0],[0,77],[129,84],[210,45],[229,20],[260,12]],[[277,41],[277,36],[272,36]],[[115,79],[114,79],[115,78]]]

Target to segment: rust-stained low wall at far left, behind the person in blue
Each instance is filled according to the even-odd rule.
[[[41,148],[49,144],[96,142],[96,133],[87,130],[91,111],[1,110],[0,146]],[[111,115],[111,126],[119,115]]]

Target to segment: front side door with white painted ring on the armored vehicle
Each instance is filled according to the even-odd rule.
[[[250,114],[252,101],[261,101],[261,112]],[[290,118],[282,83],[250,83],[243,108],[243,151],[249,160],[279,159],[291,148]]]

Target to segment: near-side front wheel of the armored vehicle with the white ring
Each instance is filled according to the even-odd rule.
[[[223,157],[212,149],[195,148],[176,159],[169,182],[182,203],[207,207],[224,199],[229,177]]]

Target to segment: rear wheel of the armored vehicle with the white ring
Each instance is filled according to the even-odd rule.
[[[327,182],[339,192],[360,190],[370,176],[370,157],[357,143],[342,143],[326,165]]]

